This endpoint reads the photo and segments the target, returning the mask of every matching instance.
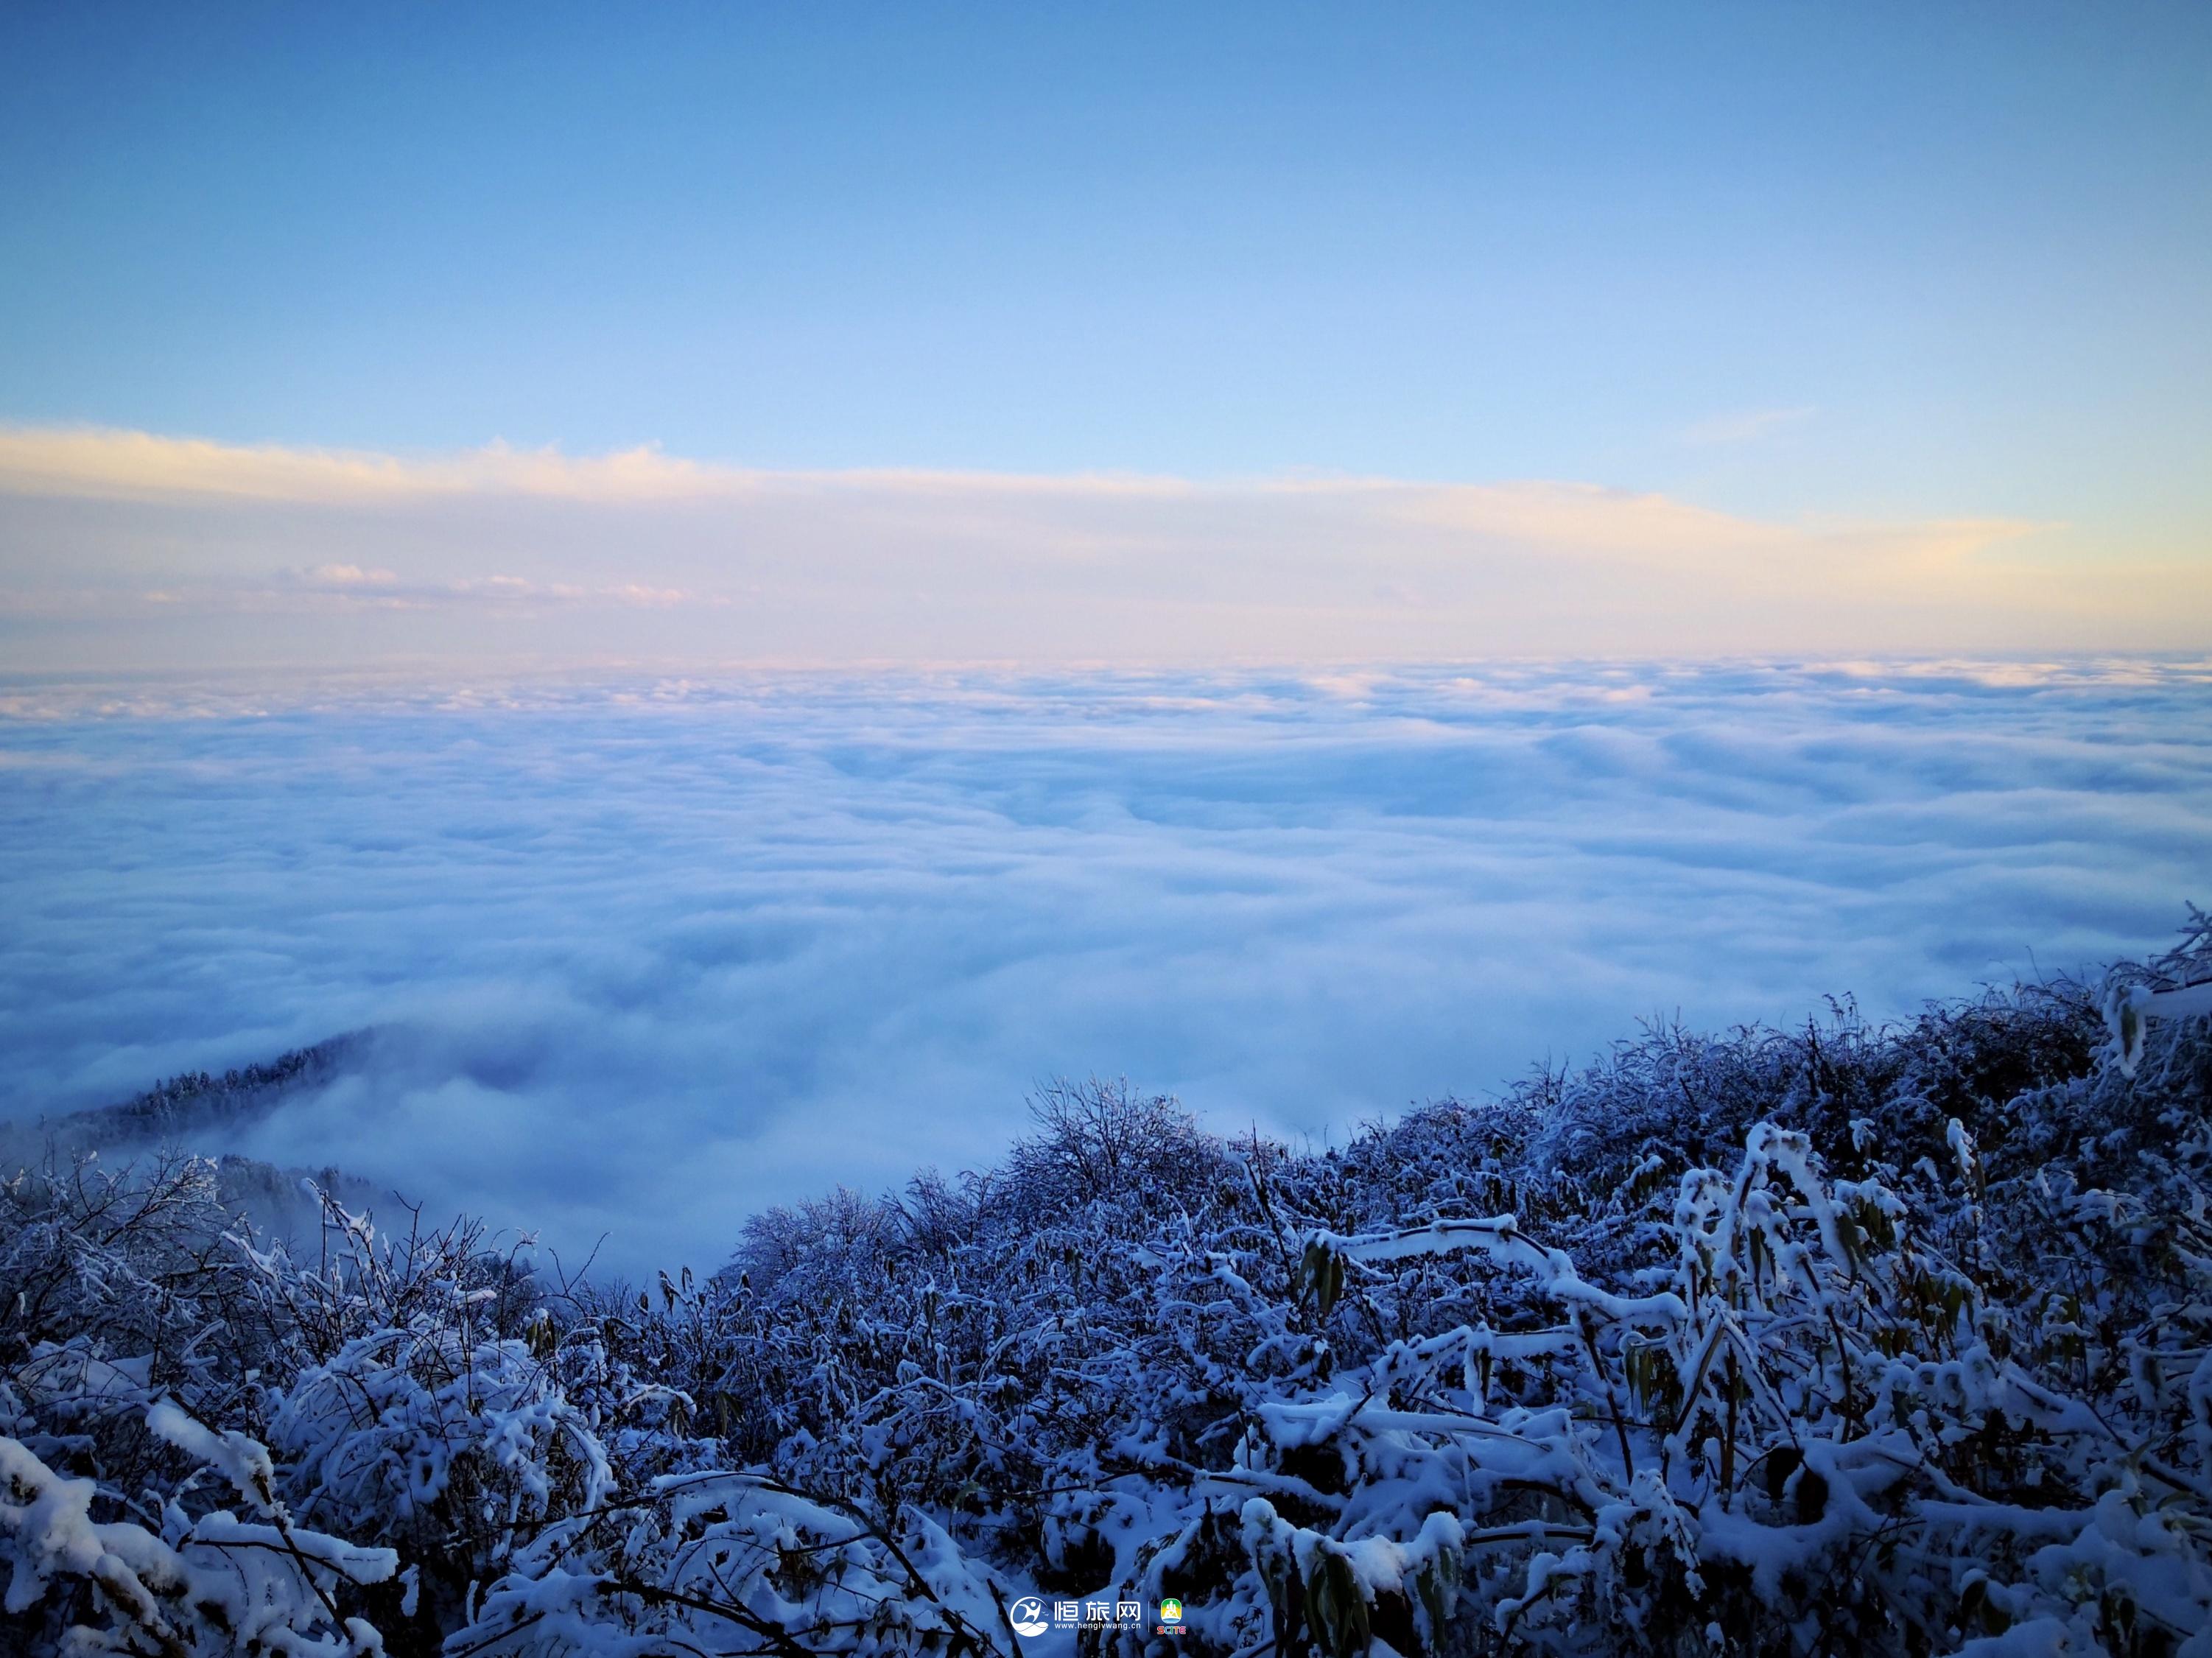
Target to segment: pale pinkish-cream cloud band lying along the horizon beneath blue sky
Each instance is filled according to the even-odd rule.
[[[1787,411],[1785,411],[1787,413]],[[1767,416],[1759,416],[1767,420]],[[763,471],[0,431],[27,668],[2203,648],[2203,559],[1586,482]]]

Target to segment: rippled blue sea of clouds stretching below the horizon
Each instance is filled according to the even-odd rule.
[[[1340,1138],[1637,1019],[1909,1012],[2212,895],[2212,663],[0,685],[0,1112],[714,1265],[1055,1074]]]

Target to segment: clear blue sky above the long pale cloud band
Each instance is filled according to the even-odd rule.
[[[0,27],[13,429],[1555,480],[1761,524],[2002,522],[2028,575],[2146,595],[2075,643],[2208,630],[2203,7],[15,7]],[[4,486],[55,493],[22,469]],[[0,586],[44,617],[84,606],[49,590],[73,548],[119,535],[4,528]],[[195,575],[164,566],[166,601]]]

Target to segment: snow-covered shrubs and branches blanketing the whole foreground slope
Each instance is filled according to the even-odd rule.
[[[2192,913],[1327,1152],[1066,1085],[646,1287],[29,1169],[0,1638],[1013,1658],[1042,1594],[1177,1596],[1190,1654],[2212,1654],[2208,977]]]

